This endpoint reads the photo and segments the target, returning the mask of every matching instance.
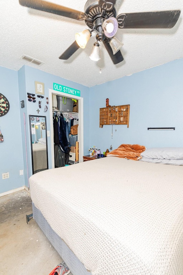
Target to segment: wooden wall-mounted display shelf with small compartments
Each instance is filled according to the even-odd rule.
[[[103,125],[124,125],[129,127],[130,105],[100,108],[100,128]]]

